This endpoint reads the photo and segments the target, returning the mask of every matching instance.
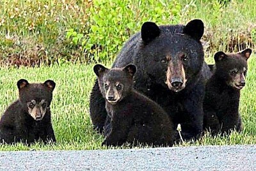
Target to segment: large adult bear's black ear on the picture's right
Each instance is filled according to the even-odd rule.
[[[200,40],[204,34],[204,22],[202,20],[191,20],[183,29],[184,34],[188,34],[195,40]]]

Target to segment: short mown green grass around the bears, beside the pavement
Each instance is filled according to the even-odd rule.
[[[110,64],[107,63],[106,66]],[[240,112],[243,117],[243,133],[232,133],[227,137],[211,137],[205,135],[196,142],[177,145],[230,145],[254,144],[256,142],[256,59],[249,60],[249,71],[246,87],[241,91]],[[0,112],[17,99],[17,81],[26,78],[29,82],[44,82],[52,79],[56,82],[51,104],[52,124],[57,143],[42,145],[37,143],[26,145],[0,145],[0,150],[56,150],[56,149],[106,149],[100,144],[103,137],[92,129],[89,115],[89,96],[95,80],[93,64],[54,64],[40,68],[1,68],[0,70]]]

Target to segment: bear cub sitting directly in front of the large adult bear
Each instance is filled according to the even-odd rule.
[[[111,119],[102,145],[172,145],[174,129],[168,114],[156,102],[132,88],[134,64],[109,70],[97,64],[100,92]]]

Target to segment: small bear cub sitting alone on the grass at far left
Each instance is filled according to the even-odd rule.
[[[44,84],[29,84],[27,80],[20,79],[17,86],[19,99],[13,102],[1,117],[1,142],[56,142],[50,110],[55,83],[46,80]]]

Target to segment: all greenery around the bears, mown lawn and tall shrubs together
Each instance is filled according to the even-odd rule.
[[[223,1],[221,1],[223,2]],[[253,0],[220,1],[75,1],[3,0],[0,4],[0,112],[17,99],[16,82],[56,82],[52,123],[58,143],[0,145],[0,150],[104,149],[103,137],[92,130],[88,99],[95,63],[111,66],[124,42],[141,24],[186,24],[202,19],[205,59],[215,52],[255,49],[256,6]],[[33,66],[28,67],[28,66]],[[249,60],[240,112],[243,133],[230,137],[205,135],[177,145],[253,144],[256,142],[255,67]]]

